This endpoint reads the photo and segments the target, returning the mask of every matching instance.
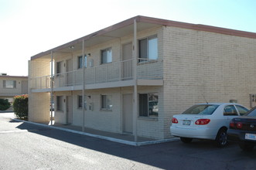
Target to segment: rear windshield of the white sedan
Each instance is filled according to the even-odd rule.
[[[183,114],[213,114],[213,112],[219,107],[215,104],[200,104],[190,107],[188,110],[184,111]]]

